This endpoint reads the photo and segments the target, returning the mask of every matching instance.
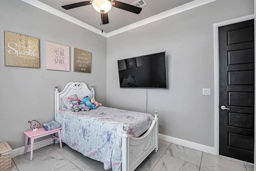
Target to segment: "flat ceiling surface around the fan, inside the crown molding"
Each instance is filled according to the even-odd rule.
[[[109,24],[104,24],[100,26],[101,17],[100,13],[96,12],[92,5],[81,6],[78,8],[73,8],[70,10],[65,10],[61,6],[67,4],[73,4],[76,2],[82,2],[84,0],[39,0],[48,6],[51,6],[61,12],[64,12],[84,23],[89,24],[97,28],[98,30],[104,30],[105,33],[112,32],[118,28],[122,28],[134,22],[138,22],[145,18],[154,16],[161,12],[170,10],[177,6],[181,6],[188,2],[192,2],[194,0],[145,0],[145,6],[142,6],[142,11],[140,14],[134,14],[132,12],[128,12],[119,8],[111,8],[108,12],[108,20]],[[126,4],[132,4],[136,0],[118,0],[120,2],[124,2]]]

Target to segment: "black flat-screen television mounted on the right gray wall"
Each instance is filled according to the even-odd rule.
[[[167,89],[166,54],[118,60],[118,73],[120,88]]]

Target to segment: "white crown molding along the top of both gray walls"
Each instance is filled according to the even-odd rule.
[[[92,27],[89,24],[86,24],[86,23],[84,23],[84,22],[82,22],[82,21],[80,21],[80,20],[78,20],[78,19],[76,19],[76,18],[74,18],[72,16],[69,16],[68,14],[65,14],[64,12],[56,10],[55,8],[52,8],[51,6],[48,6],[48,5],[42,3],[42,2],[40,2],[38,0],[21,0],[21,1],[26,2],[26,3],[30,4],[30,5],[33,5],[33,6],[37,7],[37,8],[40,8],[40,9],[46,11],[46,12],[54,14],[54,15],[60,17],[60,18],[63,18],[65,20],[69,21],[69,22],[72,22],[72,23],[74,23],[74,24],[76,24],[78,26],[86,28],[87,30],[90,30],[90,31],[92,31],[92,32],[94,32],[96,34],[99,34],[101,36],[104,36],[104,37],[108,38],[108,37],[114,36],[116,34],[120,34],[122,32],[126,32],[128,30],[132,30],[134,28],[143,26],[145,24],[148,24],[148,23],[160,20],[162,18],[166,18],[168,16],[172,16],[174,14],[178,14],[180,12],[184,12],[186,10],[190,10],[192,8],[196,8],[198,6],[202,6],[204,4],[208,4],[210,2],[214,2],[216,0],[194,0],[192,2],[184,4],[182,6],[178,6],[176,8],[170,9],[170,10],[162,12],[160,14],[156,14],[154,16],[151,16],[151,17],[146,18],[144,20],[135,22],[135,23],[130,24],[128,26],[124,26],[122,28],[119,28],[119,29],[114,30],[114,31],[109,32],[109,33],[105,33],[105,32],[102,33],[101,30],[98,30],[97,28]]]

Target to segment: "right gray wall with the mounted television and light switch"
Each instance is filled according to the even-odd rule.
[[[254,0],[218,0],[109,37],[107,105],[158,111],[159,133],[213,147],[213,24],[249,14]],[[162,51],[168,89],[119,88],[117,60]],[[202,88],[210,88],[211,95],[202,95]]]

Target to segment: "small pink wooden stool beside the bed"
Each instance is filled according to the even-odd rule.
[[[24,134],[26,135],[24,154],[27,153],[27,147],[30,148],[30,161],[32,160],[32,157],[33,157],[34,139],[37,139],[37,138],[40,138],[40,137],[44,137],[46,135],[52,135],[52,139],[48,139],[46,141],[42,141],[42,142],[40,142],[38,144],[45,143],[47,141],[52,141],[54,139],[58,139],[60,141],[60,148],[62,148],[60,129],[61,129],[61,127],[56,128],[56,129],[52,129],[52,130],[49,130],[49,131],[46,131],[43,127],[41,127],[41,128],[38,128],[38,131],[30,130],[30,131],[25,131],[24,132]],[[58,133],[58,137],[54,136],[54,133]],[[28,138],[30,138],[30,146],[28,145]],[[36,144],[36,145],[38,145],[38,144]]]

